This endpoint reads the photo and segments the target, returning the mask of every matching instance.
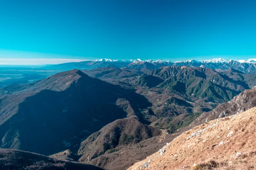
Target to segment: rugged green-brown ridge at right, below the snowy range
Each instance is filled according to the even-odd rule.
[[[237,74],[230,70],[230,74]],[[210,102],[229,101],[242,91],[249,89],[255,83],[255,76],[228,77],[210,68],[190,68],[186,66],[163,67],[151,72],[152,76],[159,77],[164,82],[157,85],[159,88],[168,88],[172,91],[208,98]],[[247,75],[246,75],[247,76]],[[253,82],[252,82],[253,80]]]

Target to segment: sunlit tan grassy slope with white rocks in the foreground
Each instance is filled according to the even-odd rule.
[[[256,108],[182,133],[128,170],[256,168]]]

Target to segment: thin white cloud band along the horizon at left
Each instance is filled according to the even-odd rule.
[[[86,59],[20,59],[20,58],[0,58],[0,65],[47,65],[61,64],[65,62],[81,62]]]

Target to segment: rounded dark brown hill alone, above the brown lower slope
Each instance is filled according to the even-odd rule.
[[[118,119],[81,142],[79,161],[91,161],[105,153],[114,152],[118,146],[136,144],[160,134],[158,128],[143,125],[137,119]]]

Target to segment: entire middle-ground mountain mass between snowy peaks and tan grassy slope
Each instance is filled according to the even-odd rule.
[[[19,150],[47,156],[35,166],[49,159],[53,167],[61,160],[125,170],[186,130],[253,108],[254,86],[255,74],[234,68],[64,71],[0,88],[0,148],[24,160]]]

